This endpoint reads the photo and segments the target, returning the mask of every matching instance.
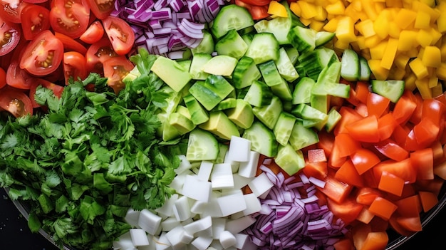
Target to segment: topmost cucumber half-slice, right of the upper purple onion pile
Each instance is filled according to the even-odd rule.
[[[212,23],[211,31],[215,38],[219,39],[232,29],[236,31],[254,25],[249,11],[236,4],[223,6]]]

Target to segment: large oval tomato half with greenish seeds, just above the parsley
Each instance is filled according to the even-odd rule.
[[[56,71],[62,58],[63,43],[51,31],[42,31],[26,46],[20,68],[33,75],[48,75]]]

